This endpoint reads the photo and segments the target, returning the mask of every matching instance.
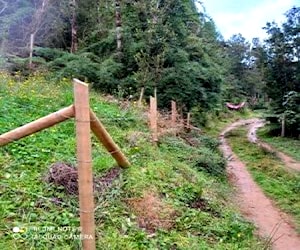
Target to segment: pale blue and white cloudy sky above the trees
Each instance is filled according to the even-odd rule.
[[[201,0],[206,13],[214,20],[224,39],[241,33],[248,41],[267,37],[262,29],[267,22],[281,24],[284,13],[293,6],[300,7],[300,0]],[[202,8],[200,7],[200,10]]]

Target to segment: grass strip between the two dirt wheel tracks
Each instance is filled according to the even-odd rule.
[[[280,209],[294,218],[300,231],[300,174],[289,172],[274,154],[265,152],[246,139],[246,130],[229,133],[233,151],[246,164],[255,181]]]

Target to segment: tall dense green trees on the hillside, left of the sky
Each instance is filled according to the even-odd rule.
[[[46,65],[58,76],[76,76],[92,82],[96,89],[121,92],[124,96],[138,96],[141,88],[149,96],[157,88],[161,107],[167,107],[171,99],[183,110],[194,106],[210,110],[220,102],[223,79],[219,35],[213,21],[198,13],[194,1],[78,0],[75,7],[79,49],[73,54],[68,50],[72,19],[69,5],[74,1],[21,2],[11,6],[20,11],[26,9],[26,18],[16,14],[18,18],[8,24],[8,36],[2,36],[2,51],[11,53],[11,46],[25,47],[26,57],[30,33],[36,32],[36,65]],[[121,51],[116,43],[117,2],[121,6]],[[42,9],[42,16],[34,15]],[[12,18],[9,10],[4,13],[1,20]],[[53,22],[53,18],[57,21]],[[39,25],[34,25],[37,22]],[[25,43],[5,46],[16,40],[14,32]]]

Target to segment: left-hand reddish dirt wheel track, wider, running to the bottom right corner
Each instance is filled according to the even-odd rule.
[[[272,238],[272,249],[299,250],[300,237],[292,226],[292,220],[264,195],[247,171],[245,164],[233,153],[225,139],[229,131],[255,121],[257,119],[235,122],[220,134],[220,149],[228,159],[227,173],[237,190],[236,202],[245,217],[254,222],[258,234],[264,238]]]

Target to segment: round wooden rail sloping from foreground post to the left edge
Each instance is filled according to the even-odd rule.
[[[0,146],[4,146],[10,142],[19,140],[45,128],[49,128],[57,123],[63,122],[74,117],[74,114],[74,106],[71,105],[36,121],[25,124],[22,127],[11,130],[10,132],[0,135]]]

